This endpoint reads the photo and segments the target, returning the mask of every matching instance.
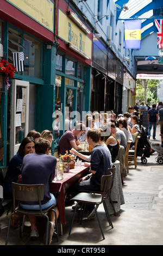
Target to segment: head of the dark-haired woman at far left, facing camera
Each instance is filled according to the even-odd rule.
[[[29,153],[35,152],[35,141],[32,137],[26,137],[22,140],[19,148],[18,153],[24,157],[25,155]]]

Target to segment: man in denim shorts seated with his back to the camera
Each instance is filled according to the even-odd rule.
[[[44,184],[45,195],[42,200],[42,209],[46,209],[51,205],[55,205],[54,210],[57,212],[57,218],[59,216],[59,210],[57,206],[57,199],[53,194],[49,192],[49,181],[53,181],[55,177],[55,167],[57,159],[55,156],[49,154],[50,144],[49,141],[40,138],[35,143],[35,153],[28,154],[23,158],[22,164],[22,184]],[[32,205],[33,203],[33,205]],[[39,202],[22,202],[22,208],[27,210],[39,210]],[[55,215],[51,211],[49,213],[49,235],[48,245],[51,244],[52,236],[55,230]],[[39,237],[39,232],[36,227],[36,217],[29,215],[29,221],[31,223],[31,238]],[[43,237],[46,240],[46,234]]]

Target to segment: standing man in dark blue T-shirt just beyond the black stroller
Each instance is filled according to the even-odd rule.
[[[150,139],[151,137],[151,129],[153,125],[153,139],[155,139],[155,132],[156,132],[156,125],[159,124],[159,112],[156,110],[156,104],[152,105],[152,109],[149,109],[148,114],[148,138]]]

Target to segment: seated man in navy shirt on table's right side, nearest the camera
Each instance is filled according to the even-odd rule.
[[[106,171],[110,168],[109,154],[106,149],[99,145],[101,139],[101,130],[87,131],[87,142],[93,148],[91,151],[90,174],[79,179],[70,189],[72,197],[78,194],[79,190],[101,191],[101,177],[106,175]],[[95,215],[95,209],[89,207],[89,215],[87,218],[92,218]]]

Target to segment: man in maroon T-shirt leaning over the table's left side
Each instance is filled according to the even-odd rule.
[[[82,123],[78,123],[72,131],[66,131],[59,140],[59,154],[64,155],[66,150],[70,153],[72,148],[80,150],[78,136],[81,136],[83,132],[85,132],[85,125]]]

